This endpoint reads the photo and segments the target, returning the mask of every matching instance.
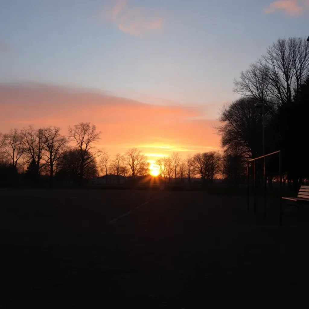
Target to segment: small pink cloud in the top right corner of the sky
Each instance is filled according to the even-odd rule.
[[[309,0],[278,0],[264,9],[266,14],[283,11],[291,16],[298,16],[309,7]]]

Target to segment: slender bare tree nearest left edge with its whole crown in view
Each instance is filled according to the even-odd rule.
[[[23,135],[18,129],[14,128],[5,134],[4,138],[6,153],[11,158],[12,165],[17,167],[17,163],[24,153]]]

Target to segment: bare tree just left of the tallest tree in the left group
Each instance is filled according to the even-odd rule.
[[[54,166],[66,150],[67,139],[64,135],[60,134],[60,130],[56,126],[43,129],[46,145],[46,165],[49,168],[51,183],[53,182]]]

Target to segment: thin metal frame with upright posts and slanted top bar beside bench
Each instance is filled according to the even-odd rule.
[[[279,154],[279,179],[280,179],[280,185],[279,185],[279,195],[280,195],[280,213],[281,213],[281,186],[282,186],[282,179],[281,179],[281,150],[272,152],[267,155],[262,155],[260,157],[250,159],[247,161],[247,211],[249,211],[249,193],[250,193],[250,188],[249,188],[249,163],[253,161],[253,212],[256,214],[256,186],[255,186],[255,161],[262,159],[263,158],[263,185],[264,185],[264,190],[263,190],[263,202],[264,202],[264,218],[266,218],[266,202],[265,202],[265,191],[266,191],[266,180],[265,180],[265,157]],[[280,224],[281,224],[281,216],[280,216]]]

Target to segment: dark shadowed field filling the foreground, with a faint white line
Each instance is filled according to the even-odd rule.
[[[0,205],[0,308],[307,307],[293,212],[278,227],[202,191],[1,190]]]

